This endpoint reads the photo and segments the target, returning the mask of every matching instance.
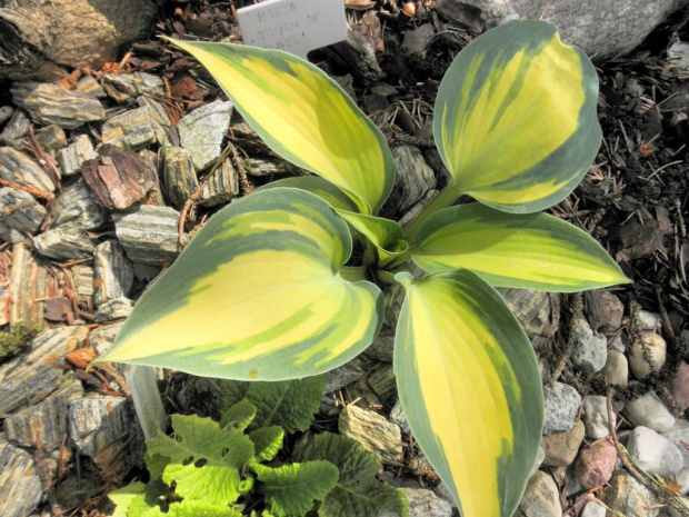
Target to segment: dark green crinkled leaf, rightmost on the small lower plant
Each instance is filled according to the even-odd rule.
[[[327,459],[340,471],[340,479],[318,510],[321,517],[378,515],[382,510],[396,511],[402,517],[409,516],[405,495],[376,479],[376,473],[381,468],[378,457],[346,436],[331,433],[317,435],[294,459]]]

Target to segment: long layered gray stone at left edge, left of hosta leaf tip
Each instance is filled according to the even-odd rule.
[[[0,418],[53,392],[64,374],[58,365],[86,345],[87,335],[88,329],[81,326],[44,330],[33,339],[28,354],[0,366]]]

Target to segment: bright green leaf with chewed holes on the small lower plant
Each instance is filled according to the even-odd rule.
[[[210,418],[172,416],[174,438],[159,433],[147,443],[148,456],[169,459],[162,473],[177,495],[213,505],[234,503],[240,495],[240,469],[253,457],[253,443],[242,431],[220,430]],[[152,473],[151,473],[152,474]]]

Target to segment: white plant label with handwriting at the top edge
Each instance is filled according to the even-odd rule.
[[[347,39],[342,0],[268,0],[237,11],[246,44],[300,58]]]

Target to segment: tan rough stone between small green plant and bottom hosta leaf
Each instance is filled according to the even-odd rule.
[[[376,453],[381,459],[399,461],[402,458],[402,434],[399,426],[385,417],[357,406],[347,406],[340,412],[339,431]]]

